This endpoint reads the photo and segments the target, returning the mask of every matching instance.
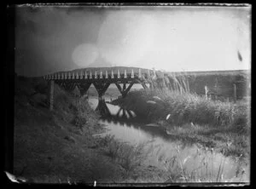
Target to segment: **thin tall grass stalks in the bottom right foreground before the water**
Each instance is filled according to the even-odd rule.
[[[220,162],[214,168],[214,150],[210,154],[202,152],[203,149],[197,148],[195,154],[190,154],[186,158],[181,158],[179,146],[176,146],[174,156],[161,158],[160,164],[163,165],[168,180],[166,182],[241,182],[248,181],[245,177],[245,170],[240,166],[236,167],[236,173],[227,175],[225,172],[227,161],[226,157],[222,157]],[[200,161],[191,165],[190,159],[198,158]],[[190,160],[190,163],[189,163]],[[189,169],[190,168],[190,169]],[[230,177],[230,178],[229,178]]]

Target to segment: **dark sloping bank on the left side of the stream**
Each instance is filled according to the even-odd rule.
[[[123,156],[136,146],[93,136],[104,132],[99,115],[84,98],[55,85],[54,111],[49,112],[47,83],[15,80],[14,175],[35,183],[164,182],[167,175],[145,167],[138,154]],[[116,150],[119,146],[119,151]],[[137,149],[139,150],[139,148]],[[134,164],[132,158],[137,159]]]

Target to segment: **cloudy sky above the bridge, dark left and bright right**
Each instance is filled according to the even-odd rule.
[[[251,7],[17,6],[15,72],[251,69]]]

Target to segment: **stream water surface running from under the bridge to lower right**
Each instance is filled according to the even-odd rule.
[[[208,171],[210,170],[211,178],[215,179],[218,177],[219,168],[222,167],[223,180],[241,180],[241,176],[245,178],[243,180],[249,180],[249,166],[241,159],[225,158],[221,153],[206,150],[191,140],[174,138],[172,135],[168,135],[164,129],[147,126],[148,120],[137,117],[135,112],[113,106],[108,101],[90,99],[89,103],[94,110],[101,114],[100,123],[105,124],[108,129],[104,135],[114,135],[115,138],[134,145],[141,142],[148,144],[152,152],[145,161],[149,165],[166,169],[166,164],[163,162],[170,162],[172,159],[178,158],[189,173],[194,173],[197,168],[203,166],[200,177],[204,175],[209,177]],[[179,164],[172,163],[172,169],[174,169],[173,166],[179,166]],[[246,169],[246,174],[237,176],[238,170],[241,169]]]

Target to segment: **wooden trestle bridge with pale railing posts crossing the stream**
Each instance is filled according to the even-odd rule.
[[[102,99],[111,83],[114,83],[125,97],[134,83],[142,84],[144,89],[148,88],[146,83],[149,83],[149,88],[153,88],[153,80],[156,78],[157,74],[154,70],[137,67],[85,68],[71,72],[55,72],[44,76],[44,79],[49,80],[50,109],[53,107],[54,83],[67,91],[73,91],[75,87],[78,87],[81,95],[84,95],[93,84],[99,99]],[[120,83],[123,83],[123,87],[120,86]],[[127,88],[126,84],[128,84]]]

